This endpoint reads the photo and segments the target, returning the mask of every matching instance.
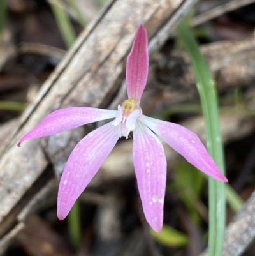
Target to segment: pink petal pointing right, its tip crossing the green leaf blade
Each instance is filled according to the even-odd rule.
[[[228,181],[195,133],[179,124],[161,121],[144,115],[139,120],[149,126],[153,132],[157,133],[196,168],[214,179]]]

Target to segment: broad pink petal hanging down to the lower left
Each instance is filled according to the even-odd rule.
[[[59,183],[57,216],[60,220],[66,218],[118,139],[119,126],[110,122],[89,133],[73,149]]]

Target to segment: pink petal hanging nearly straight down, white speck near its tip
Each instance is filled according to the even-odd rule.
[[[133,132],[133,160],[143,212],[152,229],[159,232],[163,225],[166,191],[166,156],[156,135],[137,121]]]

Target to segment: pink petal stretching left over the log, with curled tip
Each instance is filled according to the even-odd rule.
[[[33,130],[25,134],[18,141],[18,146],[24,140],[53,135],[87,123],[110,119],[116,116],[116,110],[96,109],[92,107],[68,107],[66,109],[59,109],[49,114]]]

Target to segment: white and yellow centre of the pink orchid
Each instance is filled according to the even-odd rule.
[[[128,139],[131,131],[135,130],[136,120],[142,115],[142,109],[135,99],[125,100],[122,106],[118,106],[118,114],[113,121],[114,126],[120,127],[120,137]]]

